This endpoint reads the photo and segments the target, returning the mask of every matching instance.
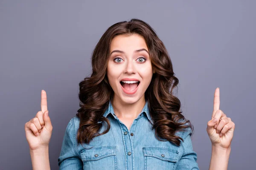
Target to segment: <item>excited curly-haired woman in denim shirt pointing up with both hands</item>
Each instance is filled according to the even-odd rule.
[[[193,126],[173,95],[178,79],[163,42],[142,20],[108,28],[92,55],[91,77],[79,83],[80,109],[67,125],[61,170],[195,170]],[[235,124],[219,110],[215,90],[207,133],[210,170],[227,170]],[[46,92],[41,111],[25,124],[33,169],[50,169],[52,124]]]

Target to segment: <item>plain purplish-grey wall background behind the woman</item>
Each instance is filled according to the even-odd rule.
[[[58,169],[93,48],[109,26],[133,17],[149,23],[169,51],[183,113],[195,126],[200,169],[209,168],[206,127],[217,87],[220,109],[236,124],[229,169],[255,167],[255,6],[253,0],[1,0],[0,169],[32,169],[24,125],[41,110],[41,89],[53,124],[51,169]]]

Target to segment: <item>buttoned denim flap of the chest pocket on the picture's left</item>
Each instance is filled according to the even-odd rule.
[[[112,155],[116,155],[116,146],[93,147],[81,151],[82,161],[98,160]]]

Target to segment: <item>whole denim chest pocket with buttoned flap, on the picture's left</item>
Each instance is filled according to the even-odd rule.
[[[117,170],[116,146],[93,147],[81,150],[84,170]]]

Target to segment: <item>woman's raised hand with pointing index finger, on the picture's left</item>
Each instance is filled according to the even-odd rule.
[[[42,90],[41,111],[25,124],[26,139],[30,150],[41,149],[49,145],[52,136],[52,123],[48,112],[46,92]]]

